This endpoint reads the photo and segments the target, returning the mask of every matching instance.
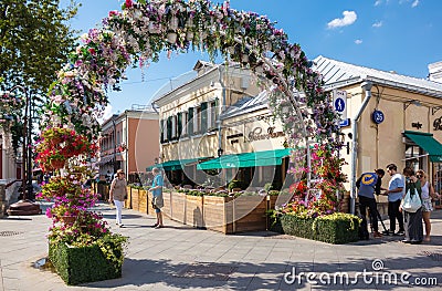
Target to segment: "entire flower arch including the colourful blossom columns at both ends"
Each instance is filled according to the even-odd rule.
[[[266,17],[233,10],[229,2],[126,0],[122,11],[109,12],[102,28],[92,29],[82,37],[82,44],[70,54],[69,63],[49,90],[50,103],[43,117],[48,128],[36,146],[36,160],[46,168],[64,167],[64,164],[52,162],[55,157],[67,165],[57,177],[52,177],[44,185],[40,195],[55,201],[48,210],[48,216],[53,218],[51,241],[69,241],[76,246],[96,242],[102,247],[104,237],[110,236],[117,241],[117,247],[109,256],[115,259],[116,268],[120,268],[126,239],[117,233],[109,235],[102,217],[90,212],[88,208],[95,204],[97,196],[78,183],[90,175],[85,162],[86,154],[91,154],[87,149],[92,146],[85,145],[93,145],[95,141],[86,143],[86,139],[80,138],[75,148],[78,153],[69,147],[70,141],[74,137],[76,141],[77,135],[97,138],[97,118],[102,117],[108,103],[106,91],[118,90],[129,65],[143,67],[156,62],[162,51],[185,53],[189,50],[206,51],[212,59],[221,54],[227,61],[239,63],[272,81],[270,108],[275,117],[281,118],[290,146],[303,148],[294,150],[294,158],[305,160],[305,156],[311,156],[309,141],[322,144],[317,147],[320,150],[330,145],[334,150],[339,127],[330,96],[322,87],[320,75],[311,69],[301,46],[288,43],[287,34],[276,29]],[[60,129],[62,125],[75,131],[65,133]],[[55,136],[62,138],[55,142]],[[318,156],[313,170],[307,168],[305,174],[308,176],[315,170],[320,174],[319,169],[327,166],[334,169],[323,163],[325,156]],[[327,201],[330,200],[328,196],[335,194],[337,181],[328,181],[333,185],[319,185],[327,189],[324,198],[313,201],[307,208],[293,204],[287,209],[308,209],[312,214],[330,208],[335,210],[336,205]],[[65,190],[60,191],[62,188]],[[296,189],[302,189],[296,197],[304,197],[305,188]],[[64,220],[71,217],[75,217],[75,222]]]

